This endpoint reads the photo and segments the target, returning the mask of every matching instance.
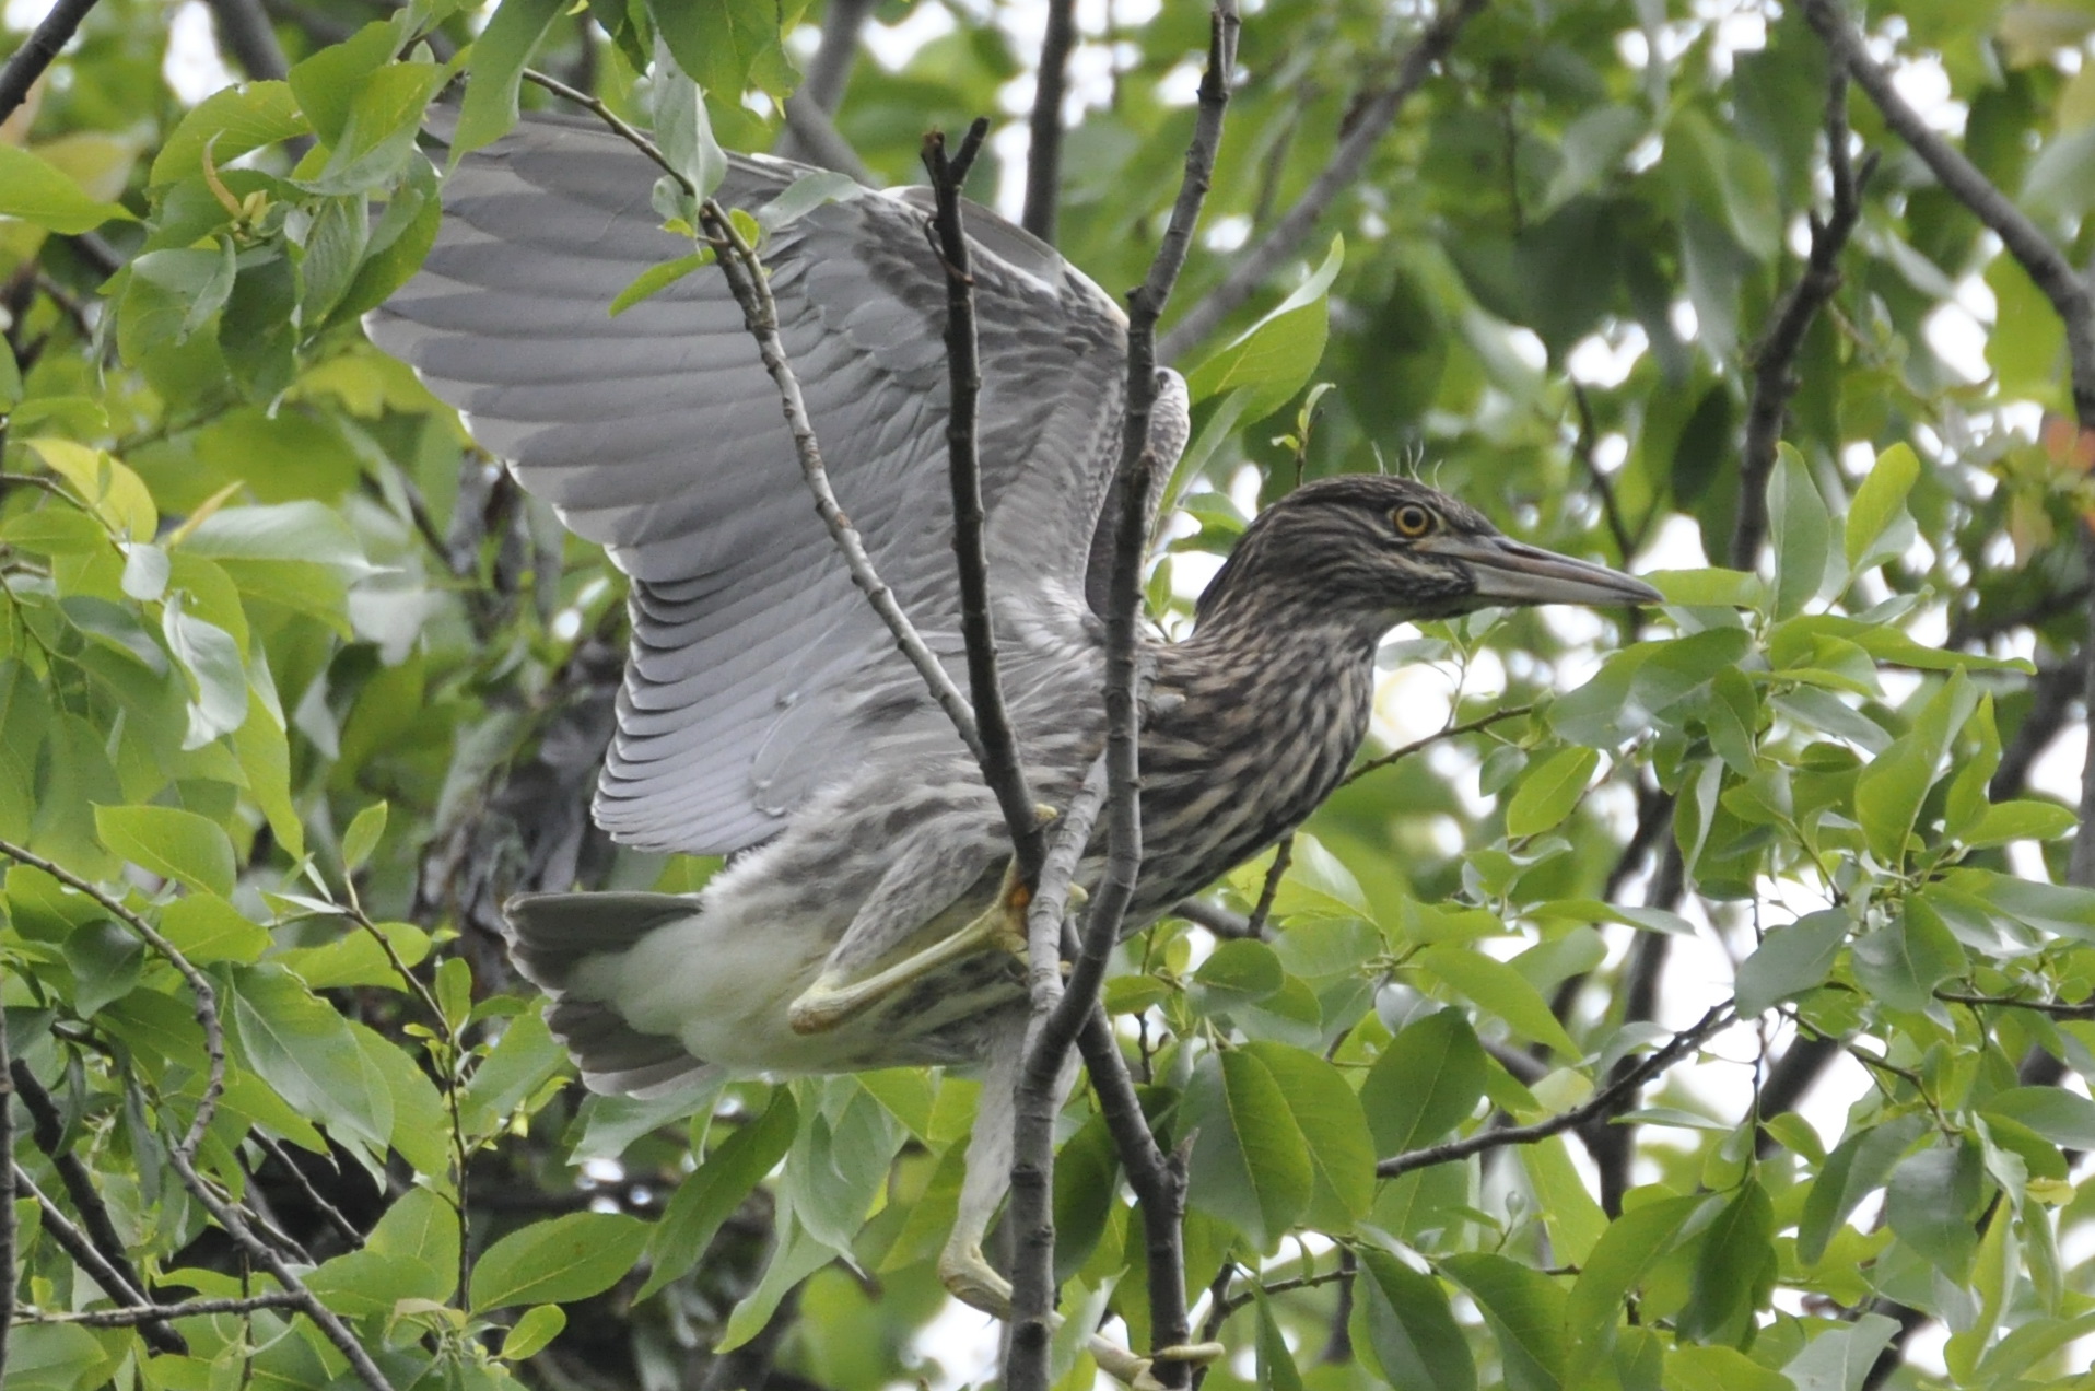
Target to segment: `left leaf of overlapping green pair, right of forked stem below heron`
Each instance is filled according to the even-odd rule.
[[[1198,1131],[1188,1202],[1272,1249],[1307,1211],[1316,1169],[1274,1075],[1244,1050],[1200,1058],[1186,1089],[1186,1129]]]

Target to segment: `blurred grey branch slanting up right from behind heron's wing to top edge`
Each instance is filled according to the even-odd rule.
[[[1330,163],[1318,172],[1295,207],[1286,209],[1280,222],[1259,239],[1259,245],[1236,260],[1236,266],[1221,279],[1221,285],[1200,295],[1200,302],[1165,333],[1156,348],[1159,358],[1175,362],[1186,356],[1188,350],[1221,327],[1221,321],[1236,312],[1265,283],[1265,277],[1295,256],[1324,212],[1360,180],[1360,172],[1368,165],[1368,155],[1389,126],[1395,124],[1397,111],[1404,109],[1412,92],[1425,86],[1433,67],[1454,48],[1462,25],[1483,4],[1485,0],[1448,0],[1448,6],[1420,31],[1410,52],[1404,54],[1395,82],[1353,105],[1353,126],[1339,140]]]

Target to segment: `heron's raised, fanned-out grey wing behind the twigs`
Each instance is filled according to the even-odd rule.
[[[610,316],[635,277],[691,249],[649,205],[658,174],[610,132],[528,119],[461,161],[421,274],[367,327],[633,576],[597,819],[633,844],[731,853],[817,786],[941,727],[815,517],[721,272]],[[804,174],[735,157],[719,197],[763,209]],[[836,492],[966,683],[945,283],[924,218],[918,191],[863,193],[786,222],[763,253]],[[1043,243],[968,218],[991,591],[1022,687],[1029,658],[1094,641],[1085,566],[1117,457],[1125,321]]]

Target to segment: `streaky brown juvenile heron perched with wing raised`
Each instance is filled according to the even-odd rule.
[[[804,174],[737,157],[719,197],[765,218]],[[649,205],[656,176],[608,132],[526,122],[463,159],[425,268],[369,325],[633,580],[601,825],[635,846],[735,857],[696,897],[520,899],[511,949],[599,1091],[666,1091],[704,1068],[989,1062],[941,1274],[999,1309],[1008,1290],[978,1240],[1006,1188],[1010,1039],[1024,1018],[999,926],[1004,819],[817,524],[723,277],[605,312],[643,270],[689,251]],[[928,207],[924,191],[819,203],[769,218],[763,253],[836,492],[966,683]],[[970,209],[968,230],[999,660],[1035,796],[1064,807],[1104,742],[1125,318],[995,214]],[[1152,444],[1175,459],[1186,388],[1175,373],[1161,388]],[[1200,597],[1192,637],[1154,645],[1146,857],[1127,926],[1324,800],[1366,733],[1374,649],[1393,624],[1655,599],[1613,570],[1506,540],[1418,482],[1351,476],[1284,496]]]

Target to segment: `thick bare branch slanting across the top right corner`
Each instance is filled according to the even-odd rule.
[[[1883,113],[1883,124],[1921,157],[1942,186],[1984,222],[2022,264],[2051,308],[2066,323],[2066,348],[2072,356],[2074,415],[2082,425],[2095,425],[2095,297],[2066,253],[2001,193],[1963,151],[1942,138],[1921,119],[1898,88],[1892,73],[1869,57],[1862,36],[1842,15],[1835,0],[1804,0],[1804,19],[1825,42],[1833,61],[1848,69],[1856,86]]]

